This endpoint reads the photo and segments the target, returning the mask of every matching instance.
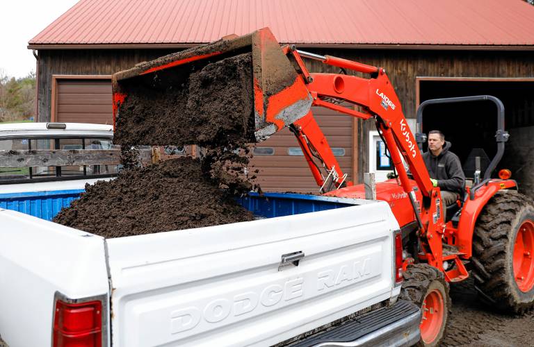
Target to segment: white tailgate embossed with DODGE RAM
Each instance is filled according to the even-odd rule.
[[[395,229],[376,202],[107,239],[113,345],[266,346],[362,310],[391,296]]]

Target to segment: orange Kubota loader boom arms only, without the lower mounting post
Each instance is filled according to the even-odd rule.
[[[312,105],[329,108],[337,112],[345,113],[360,119],[369,119],[373,117],[382,137],[384,138],[387,148],[391,153],[391,159],[398,171],[401,185],[405,192],[410,193],[412,187],[407,176],[407,171],[404,168],[401,160],[403,156],[405,162],[410,167],[410,172],[414,176],[414,180],[421,189],[423,196],[430,197],[432,191],[432,183],[428,170],[421,157],[421,152],[416,144],[415,138],[408,127],[407,121],[401,109],[401,103],[394,91],[389,78],[383,69],[378,67],[371,67],[363,65],[358,62],[344,60],[341,58],[334,58],[330,56],[317,56],[313,53],[297,51],[295,49],[284,48],[284,51],[295,58],[300,67],[303,79],[307,81],[307,89],[312,95]],[[355,71],[372,74],[371,78],[361,78],[357,76],[348,76],[345,74],[310,74],[301,56],[306,58],[313,58],[321,60],[325,64],[341,67],[343,69],[353,69]],[[343,105],[332,103],[330,100],[348,101],[355,105],[361,106],[363,112],[348,108]],[[317,152],[318,157],[324,163],[327,170],[332,170],[334,167],[336,171],[337,185],[341,185],[343,173],[330,146],[327,144],[321,129],[315,121],[312,121],[312,113],[293,123],[293,133],[296,134],[300,146],[312,148]],[[307,141],[303,141],[305,138]],[[304,142],[304,144],[303,144]],[[398,151],[394,151],[398,149]],[[305,151],[303,149],[305,153]],[[399,152],[401,153],[399,155]],[[318,185],[323,185],[324,181],[319,180],[316,175],[316,167],[312,167],[309,158],[305,154],[314,177]]]

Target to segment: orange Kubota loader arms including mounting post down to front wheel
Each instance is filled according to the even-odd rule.
[[[298,65],[299,73],[306,83],[309,94],[312,95],[312,105],[329,108],[360,119],[375,119],[375,124],[389,149],[401,186],[410,198],[416,221],[419,224],[419,236],[423,237],[421,255],[430,265],[444,271],[442,236],[445,225],[442,209],[445,207],[441,203],[439,188],[432,186],[426,164],[403,115],[401,103],[384,69],[341,58],[317,56],[313,53],[298,51],[294,46],[284,46],[283,50]],[[371,74],[371,76],[362,78],[346,74],[312,74],[307,71],[301,57],[320,60],[327,65],[352,69]],[[339,105],[339,101],[358,105],[360,110]],[[321,128],[313,119],[312,112],[293,122],[290,128],[297,136],[314,178],[318,185],[321,185],[321,190],[327,183],[327,179],[318,172],[320,170],[312,157],[319,158],[336,187],[343,187],[346,176],[343,175],[334,158]],[[403,159],[410,167],[416,185],[423,195],[421,206],[416,205],[414,188],[407,176]],[[352,183],[349,182],[348,185],[350,184]],[[457,265],[460,266],[458,262]],[[447,278],[456,277],[452,273],[445,273]]]

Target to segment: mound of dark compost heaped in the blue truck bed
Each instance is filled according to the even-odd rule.
[[[252,213],[234,201],[241,186],[220,189],[224,185],[205,174],[198,159],[166,160],[86,185],[54,222],[112,238],[252,221]]]

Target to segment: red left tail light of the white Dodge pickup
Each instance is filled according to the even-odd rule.
[[[102,347],[102,301],[56,300],[54,347]]]

